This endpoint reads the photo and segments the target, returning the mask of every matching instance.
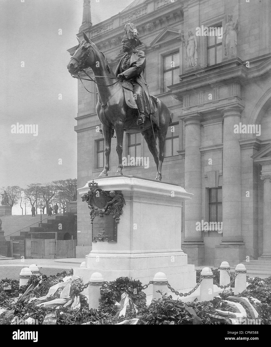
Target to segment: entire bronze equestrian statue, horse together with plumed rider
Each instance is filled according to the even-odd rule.
[[[79,44],[76,46],[67,68],[69,73],[73,77],[79,78],[81,82],[82,79],[86,79],[79,74],[83,71],[89,77],[87,81],[92,81],[97,85],[96,112],[102,124],[101,132],[105,138],[105,166],[99,177],[108,176],[111,138],[114,136],[115,130],[118,154],[118,168],[115,175],[123,175],[124,132],[141,133],[154,157],[157,167],[155,179],[161,181],[165,138],[172,115],[161,100],[149,94],[144,78],[145,53],[136,49],[138,45],[142,44],[136,27],[133,23],[128,23],[125,25],[124,31],[122,48],[125,54],[121,58],[115,74],[104,53],[99,51],[96,44],[84,32],[82,41],[77,37]],[[87,68],[92,69],[95,79],[87,73],[85,70]],[[85,89],[87,90],[87,88]],[[156,147],[157,138],[159,152]]]

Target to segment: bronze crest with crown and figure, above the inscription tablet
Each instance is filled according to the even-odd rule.
[[[88,193],[83,194],[81,198],[87,202],[90,209],[91,224],[96,215],[103,217],[104,214],[111,214],[115,223],[119,223],[125,204],[123,194],[119,191],[103,191],[94,180],[89,183],[89,187]]]

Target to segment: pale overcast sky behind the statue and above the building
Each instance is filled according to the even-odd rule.
[[[91,0],[92,24],[131,2]],[[77,44],[82,13],[83,0],[0,0],[0,189],[77,177],[77,81],[66,50]],[[38,135],[11,133],[17,123],[38,125]]]

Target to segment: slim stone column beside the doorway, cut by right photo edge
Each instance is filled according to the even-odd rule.
[[[271,175],[262,175],[263,183],[263,254],[271,259]],[[260,258],[260,259],[261,259]]]

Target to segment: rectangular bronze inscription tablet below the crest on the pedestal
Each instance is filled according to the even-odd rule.
[[[111,214],[96,216],[92,223],[92,242],[117,242],[117,223]]]

